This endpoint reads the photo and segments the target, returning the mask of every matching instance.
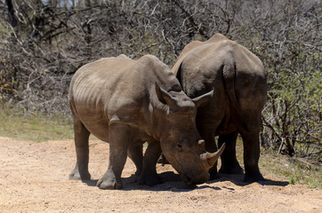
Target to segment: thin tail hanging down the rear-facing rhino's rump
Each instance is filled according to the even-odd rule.
[[[243,122],[243,117],[241,114],[241,107],[237,101],[236,92],[235,92],[235,79],[236,79],[236,66],[235,64],[229,63],[225,64],[222,68],[222,76],[224,79],[224,85],[229,96],[230,102],[230,112],[232,119],[237,123],[238,129],[247,130],[246,124]]]

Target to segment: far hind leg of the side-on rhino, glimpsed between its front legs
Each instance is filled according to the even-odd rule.
[[[134,162],[136,171],[135,175],[140,176],[143,169],[143,142],[140,141],[139,144],[129,145],[127,148],[127,155]]]

